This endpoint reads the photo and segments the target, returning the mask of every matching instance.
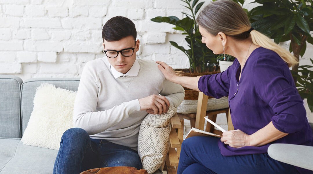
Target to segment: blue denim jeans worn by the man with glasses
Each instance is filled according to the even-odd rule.
[[[113,166],[141,169],[137,151],[106,140],[91,139],[81,128],[66,130],[54,162],[54,174],[78,174],[82,171]]]

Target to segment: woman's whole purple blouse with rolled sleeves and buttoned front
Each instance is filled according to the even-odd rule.
[[[204,94],[221,98],[228,96],[233,126],[248,135],[270,121],[287,136],[271,143],[313,146],[312,130],[290,70],[278,54],[259,47],[246,60],[241,78],[237,59],[222,73],[205,75],[198,81]],[[219,141],[223,156],[267,153],[269,144],[233,148]]]

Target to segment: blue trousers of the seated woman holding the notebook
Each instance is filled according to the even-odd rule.
[[[217,137],[194,136],[182,142],[177,174],[294,174],[295,166],[276,161],[267,153],[223,156]]]

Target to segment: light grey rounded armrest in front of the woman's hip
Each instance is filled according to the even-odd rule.
[[[294,144],[271,144],[269,156],[277,161],[313,170],[313,146]]]

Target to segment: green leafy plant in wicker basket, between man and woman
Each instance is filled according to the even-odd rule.
[[[191,11],[191,14],[183,13],[186,18],[179,19],[176,16],[152,18],[151,21],[158,23],[170,23],[175,25],[173,29],[182,31],[186,35],[186,42],[189,49],[185,49],[183,46],[179,46],[176,42],[170,41],[172,46],[184,52],[190,64],[189,72],[191,73],[203,73],[210,71],[217,71],[218,61],[217,55],[213,54],[213,51],[208,49],[205,44],[201,42],[201,34],[199,32],[198,25],[196,23],[196,14],[202,7],[204,2],[198,3],[199,0],[181,0],[186,3],[186,8]]]

